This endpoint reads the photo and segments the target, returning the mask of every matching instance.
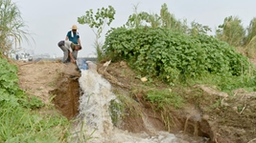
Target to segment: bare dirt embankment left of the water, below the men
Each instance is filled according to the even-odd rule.
[[[58,61],[17,62],[20,88],[39,97],[46,105],[40,112],[61,112],[68,119],[79,111],[80,72],[74,64]],[[48,108],[54,104],[58,111]]]

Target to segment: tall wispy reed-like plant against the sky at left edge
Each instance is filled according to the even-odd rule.
[[[29,41],[26,25],[21,17],[20,10],[12,0],[0,0],[0,53],[9,55],[15,51],[12,44],[20,44],[22,40]]]

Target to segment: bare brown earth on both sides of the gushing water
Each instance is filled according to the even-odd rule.
[[[58,61],[17,62],[19,85],[28,94],[38,96],[46,105],[54,104],[58,111],[47,106],[42,113],[62,113],[68,119],[78,114],[81,95],[78,78],[80,72],[73,64]],[[256,142],[256,92],[238,89],[232,95],[219,92],[215,87],[195,85],[172,88],[186,99],[182,109],[168,108],[156,111],[147,101],[147,90],[170,88],[158,81],[143,82],[132,72],[126,62],[98,64],[113,92],[132,99],[128,114],[119,128],[133,133],[153,133],[143,123],[142,115],[158,131],[169,131],[189,136],[204,136],[209,142],[252,143]],[[133,109],[133,110],[132,110]],[[138,113],[134,113],[137,111]]]

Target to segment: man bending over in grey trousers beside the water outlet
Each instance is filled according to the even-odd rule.
[[[71,41],[59,41],[58,47],[63,51],[64,56],[62,59],[63,63],[68,63],[70,60],[76,64],[77,55],[75,51],[81,50],[81,45],[72,43]],[[77,52],[78,53],[78,52]]]

